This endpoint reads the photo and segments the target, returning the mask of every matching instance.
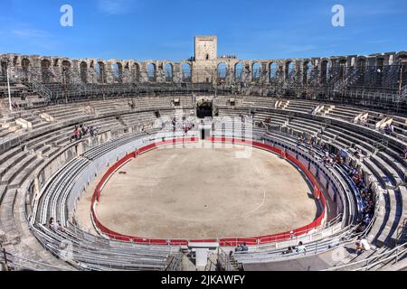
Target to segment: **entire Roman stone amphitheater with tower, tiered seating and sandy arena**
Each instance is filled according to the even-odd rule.
[[[406,270],[407,51],[0,63],[0,270]]]

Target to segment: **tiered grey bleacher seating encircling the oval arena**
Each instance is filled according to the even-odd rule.
[[[175,107],[174,98],[180,98],[180,107]],[[233,106],[229,103],[230,98],[235,99]],[[365,232],[374,246],[382,247],[379,249],[380,253],[376,254],[380,255],[385,252],[385,248],[400,244],[402,241],[400,228],[407,218],[407,170],[406,160],[402,155],[407,144],[400,137],[393,138],[392,135],[385,135],[373,128],[384,116],[368,111],[368,124],[372,126],[364,126],[354,122],[355,117],[366,112],[362,109],[335,106],[314,115],[314,109],[321,105],[315,101],[279,99],[278,101],[282,103],[277,107],[276,101],[277,99],[270,97],[218,96],[213,100],[213,107],[217,110],[219,118],[251,116],[257,135],[264,134],[269,128],[270,135],[284,144],[298,145],[298,137],[301,135],[315,137],[317,144],[312,147],[301,144],[298,149],[312,151],[318,161],[326,153],[336,154],[345,150],[368,176],[370,183],[377,186],[382,193],[377,195],[382,201],[377,204],[374,221]],[[131,107],[130,102],[134,107]],[[175,109],[180,108],[187,114],[188,109],[193,107],[194,103],[190,97],[143,96],[36,107],[23,110],[18,116],[2,114],[0,139],[5,136],[9,139],[10,135],[26,135],[20,143],[10,145],[0,154],[0,226],[11,238],[7,248],[13,250],[14,247],[18,247],[18,238],[22,235],[22,225],[14,218],[15,210],[20,210],[21,204],[25,203],[25,192],[21,189],[26,189],[33,175],[46,167],[52,158],[62,155],[67,147],[91,141],[90,136],[80,141],[71,139],[74,126],[85,124],[88,127],[97,127],[99,134],[105,132],[111,134],[99,144],[90,146],[87,144],[88,146],[84,146],[84,152],[79,151],[69,159],[66,158],[59,164],[62,170],[53,168],[53,172],[56,173],[52,174],[51,182],[46,185],[39,184],[43,194],[35,210],[41,212],[41,217],[32,224],[34,236],[54,256],[61,256],[59,246],[62,241],[71,241],[75,247],[73,257],[75,262],[71,262],[70,265],[78,269],[165,269],[167,257],[179,250],[179,247],[128,244],[91,235],[71,223],[66,202],[75,178],[89,163],[155,128],[157,111],[160,117],[175,117]],[[51,116],[53,120],[47,121],[40,117],[43,113]],[[15,123],[18,117],[32,123],[33,127],[30,129],[19,127]],[[189,114],[186,117],[190,117]],[[392,117],[394,134],[405,135],[406,119]],[[217,121],[219,118],[214,117],[213,120]],[[127,129],[130,127],[139,129],[129,133]],[[144,128],[143,133],[141,127]],[[233,126],[227,124],[225,128],[228,130]],[[361,150],[362,156],[356,156],[358,149]],[[342,180],[344,190],[352,194],[354,209],[359,211],[355,215],[360,215],[362,205],[355,183],[344,168],[332,167],[330,170]],[[62,220],[65,231],[54,231],[43,226],[50,217]],[[308,242],[307,247],[316,254],[324,254],[328,250],[347,244],[346,242],[354,241],[356,236],[354,233],[354,230],[342,228],[334,234],[327,235],[326,238]],[[339,239],[341,241],[338,241]],[[98,254],[94,254],[95,250]],[[236,259],[243,264],[251,264],[298,257],[298,255],[282,256],[282,251],[282,248],[258,247],[249,252],[250,254],[236,254]],[[357,260],[363,257],[368,256],[360,256]]]

